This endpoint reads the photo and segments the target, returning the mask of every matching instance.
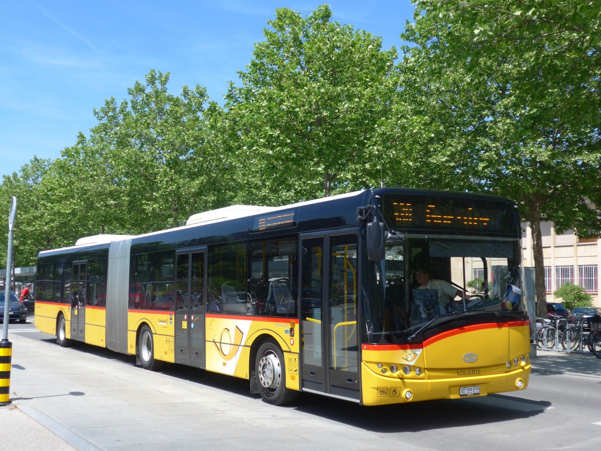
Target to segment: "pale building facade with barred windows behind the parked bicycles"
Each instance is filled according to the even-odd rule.
[[[534,266],[532,230],[522,222],[523,266]],[[548,302],[559,302],[553,292],[561,284],[570,282],[584,287],[593,298],[593,305],[601,307],[599,266],[601,266],[601,240],[578,238],[570,230],[555,232],[552,222],[540,224],[545,262],[545,288]]]

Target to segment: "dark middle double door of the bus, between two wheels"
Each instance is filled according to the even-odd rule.
[[[175,362],[204,368],[206,252],[177,254],[175,283]]]

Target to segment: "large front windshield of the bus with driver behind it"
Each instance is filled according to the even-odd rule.
[[[524,313],[519,264],[517,239],[406,236],[404,243],[387,242],[385,259],[375,265],[379,308],[366,309],[366,338],[402,343],[445,322],[456,327],[456,319]]]

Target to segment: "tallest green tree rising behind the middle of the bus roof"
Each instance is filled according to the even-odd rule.
[[[373,185],[373,140],[394,91],[397,52],[322,5],[276,10],[227,94],[231,149],[246,198],[284,203]]]

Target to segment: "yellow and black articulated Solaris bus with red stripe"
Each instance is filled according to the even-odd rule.
[[[523,390],[520,222],[505,198],[379,188],[233,206],[38,256],[35,326],[136,356],[362,405]],[[469,286],[469,288],[468,288]]]

